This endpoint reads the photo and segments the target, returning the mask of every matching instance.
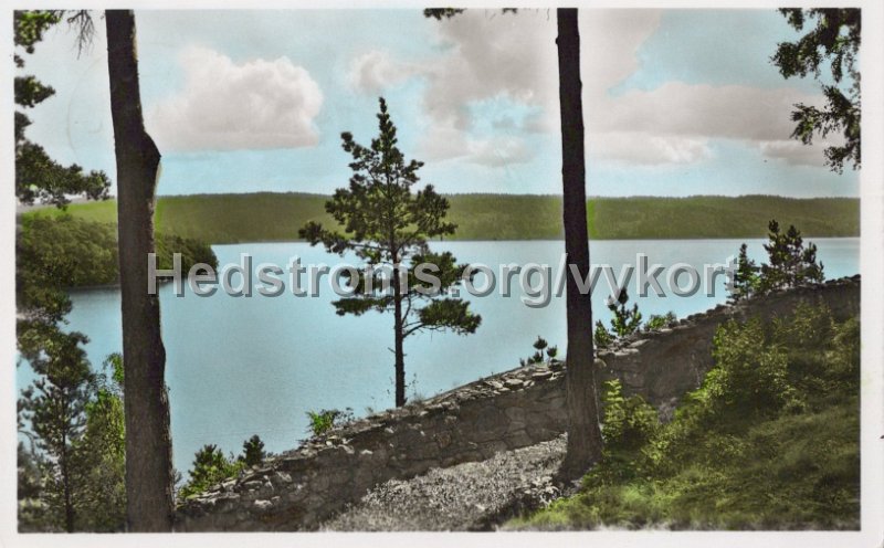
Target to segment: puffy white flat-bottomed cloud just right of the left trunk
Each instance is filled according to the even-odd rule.
[[[151,109],[147,125],[160,149],[238,150],[309,147],[323,93],[287,57],[243,64],[206,48],[180,57],[185,88]]]

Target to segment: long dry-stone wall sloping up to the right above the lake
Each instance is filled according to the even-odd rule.
[[[641,334],[599,354],[601,378],[620,378],[665,418],[712,367],[719,324],[767,319],[818,299],[836,317],[856,314],[859,276],[718,306]],[[561,363],[519,368],[335,429],[188,499],[176,529],[311,530],[379,483],[551,440],[566,431],[564,375]]]

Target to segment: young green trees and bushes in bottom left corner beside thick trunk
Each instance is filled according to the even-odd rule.
[[[25,356],[39,379],[22,391],[20,413],[38,451],[19,454],[20,470],[27,471],[24,478],[20,474],[20,528],[123,530],[122,357],[105,361],[113,370],[108,379],[90,369],[82,335],[55,331],[49,340]]]

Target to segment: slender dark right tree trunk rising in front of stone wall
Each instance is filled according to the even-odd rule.
[[[568,408],[568,449],[560,479],[586,473],[601,456],[601,431],[596,403],[592,349],[592,302],[582,295],[571,275],[589,274],[586,166],[583,161],[583,105],[580,97],[580,34],[577,9],[557,10],[559,104],[561,113],[561,180],[564,191],[565,253],[567,261],[568,355],[565,376]]]

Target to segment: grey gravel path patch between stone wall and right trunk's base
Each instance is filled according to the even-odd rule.
[[[391,479],[325,523],[323,530],[487,530],[520,509],[559,495],[552,474],[565,436],[497,453],[483,462]]]

